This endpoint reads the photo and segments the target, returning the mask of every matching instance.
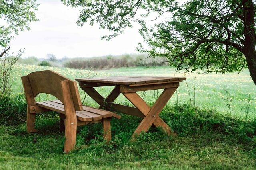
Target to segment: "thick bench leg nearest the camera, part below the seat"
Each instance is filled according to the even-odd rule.
[[[77,129],[77,119],[76,116],[74,119],[65,120],[65,143],[64,143],[64,153],[68,153],[71,150],[74,150],[76,145],[76,129]]]

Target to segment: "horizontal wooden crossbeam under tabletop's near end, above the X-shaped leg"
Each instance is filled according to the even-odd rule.
[[[178,83],[152,84],[152,85],[132,86],[132,87],[120,85],[120,91],[122,93],[130,93],[130,92],[138,92],[138,91],[145,91],[145,90],[176,88],[178,86],[179,86]]]

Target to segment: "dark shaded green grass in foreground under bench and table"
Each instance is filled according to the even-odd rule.
[[[0,169],[254,169],[256,121],[225,117],[189,106],[164,109],[162,118],[179,137],[151,128],[136,141],[129,138],[139,118],[122,115],[112,120],[112,142],[105,145],[101,125],[78,129],[77,148],[62,153],[64,134],[58,116],[37,117],[38,133],[26,134],[26,125],[0,126]]]

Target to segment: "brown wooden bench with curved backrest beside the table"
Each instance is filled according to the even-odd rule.
[[[120,119],[120,115],[82,105],[75,81],[50,70],[32,72],[21,79],[27,101],[28,133],[37,132],[36,113],[56,111],[60,113],[60,128],[65,128],[65,153],[74,149],[76,129],[80,125],[102,122],[103,137],[107,142],[111,140],[110,119],[112,117]],[[51,94],[58,100],[35,102],[34,98],[39,93]]]

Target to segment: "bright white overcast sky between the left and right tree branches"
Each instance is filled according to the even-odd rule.
[[[10,45],[14,52],[26,48],[22,57],[46,57],[52,53],[62,57],[94,57],[138,53],[136,47],[142,42],[138,27],[126,29],[118,37],[101,40],[107,31],[91,27],[87,23],[77,27],[79,10],[66,7],[60,0],[38,0],[41,5],[36,11],[39,21],[31,23],[29,31],[20,32]]]

